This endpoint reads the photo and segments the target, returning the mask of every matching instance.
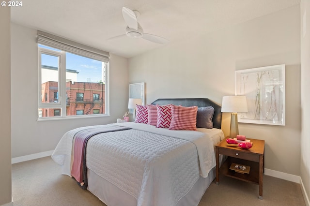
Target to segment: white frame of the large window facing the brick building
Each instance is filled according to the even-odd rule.
[[[38,33],[39,34],[39,33]],[[55,48],[55,49],[60,49],[61,51],[57,51],[57,50],[51,50],[51,49],[47,49],[47,48],[43,48],[40,47],[39,44],[41,45],[45,45],[51,48]],[[78,44],[78,43],[76,43]],[[79,44],[81,45],[81,44]],[[69,53],[73,53],[75,55],[78,56],[82,56],[82,57],[86,57],[86,58],[90,58],[90,59],[94,59],[94,60],[98,60],[101,61],[102,63],[105,63],[105,71],[103,74],[104,76],[104,82],[105,82],[105,113],[104,114],[91,114],[91,115],[71,115],[71,116],[67,116],[66,115],[66,52]],[[55,103],[42,103],[42,82],[41,82],[41,75],[42,75],[42,63],[41,63],[41,55],[42,54],[47,54],[47,55],[52,55],[52,56],[57,56],[59,58],[59,90],[58,90],[58,102]],[[109,53],[108,53],[109,54]],[[108,60],[107,60],[108,59]],[[63,69],[64,68],[64,69]],[[39,37],[38,37],[38,113],[37,113],[37,117],[38,120],[55,120],[55,119],[66,119],[66,118],[94,118],[94,117],[109,117],[109,56],[108,58],[106,57],[106,59],[103,58],[97,58],[96,56],[93,56],[92,53],[90,52],[90,55],[85,55],[85,51],[83,52],[78,52],[78,50],[75,50],[74,52],[71,51],[66,51],[63,50],[57,46],[53,46],[50,44],[43,44],[40,43],[39,41]],[[43,94],[45,95],[45,93]],[[45,96],[44,96],[45,98]],[[102,97],[103,98],[103,97]],[[39,117],[39,109],[61,109],[61,115],[60,116],[56,116],[56,117]]]

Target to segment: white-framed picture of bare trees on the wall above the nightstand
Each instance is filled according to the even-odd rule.
[[[285,64],[235,71],[235,95],[248,104],[238,122],[285,126]]]

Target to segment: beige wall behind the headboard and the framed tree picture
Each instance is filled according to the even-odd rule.
[[[221,103],[222,96],[234,95],[236,70],[285,64],[286,126],[240,123],[239,133],[265,140],[265,168],[300,175],[299,5],[188,37],[128,63],[129,83],[146,83],[146,103],[186,97],[207,97]],[[228,134],[227,114],[223,118],[223,130]]]

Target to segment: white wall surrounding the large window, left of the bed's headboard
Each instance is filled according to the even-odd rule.
[[[37,31],[11,24],[12,158],[53,150],[70,129],[116,122],[128,104],[127,59],[110,56],[110,117],[37,121]]]

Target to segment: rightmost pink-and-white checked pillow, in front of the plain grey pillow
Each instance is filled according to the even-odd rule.
[[[171,105],[171,123],[169,130],[193,130],[196,131],[197,106]]]

